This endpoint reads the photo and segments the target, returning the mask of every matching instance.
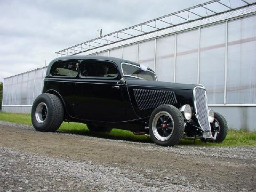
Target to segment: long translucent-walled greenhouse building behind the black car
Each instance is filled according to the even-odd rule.
[[[199,4],[56,53],[123,58],[153,69],[158,81],[202,84],[209,108],[229,128],[255,131],[256,5],[226,2]],[[2,110],[30,113],[45,71],[5,78]]]

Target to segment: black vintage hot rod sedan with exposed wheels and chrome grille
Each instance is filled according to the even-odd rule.
[[[146,66],[99,56],[70,56],[50,62],[43,94],[31,110],[38,131],[61,123],[86,123],[90,131],[130,130],[150,135],[158,145],[183,138],[221,142],[227,122],[208,110],[202,85],[157,81]]]

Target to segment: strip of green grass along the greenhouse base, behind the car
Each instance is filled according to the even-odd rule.
[[[31,118],[29,114],[12,114],[0,112],[0,121],[7,121],[13,123],[20,123],[26,125],[31,124]],[[124,131],[113,129],[109,133],[103,132],[90,132],[87,126],[82,123],[62,123],[58,130],[62,133],[73,133],[80,135],[90,135],[92,137],[119,139],[126,141],[138,141],[138,142],[151,142],[151,140],[145,135],[134,135],[131,131]],[[179,145],[194,145],[193,140],[182,139]],[[202,142],[196,140],[196,146],[219,146],[219,147],[236,147],[236,146],[256,146],[256,131],[248,132],[245,130],[229,130],[226,139],[222,143],[214,142]]]

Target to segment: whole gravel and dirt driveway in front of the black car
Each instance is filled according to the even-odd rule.
[[[0,191],[255,191],[255,181],[255,147],[161,147],[0,121]]]

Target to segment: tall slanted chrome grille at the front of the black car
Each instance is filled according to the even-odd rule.
[[[209,137],[212,137],[211,125],[208,119],[206,90],[204,89],[204,87],[196,86],[194,88],[193,94],[197,121],[201,129],[205,132],[209,132]]]

